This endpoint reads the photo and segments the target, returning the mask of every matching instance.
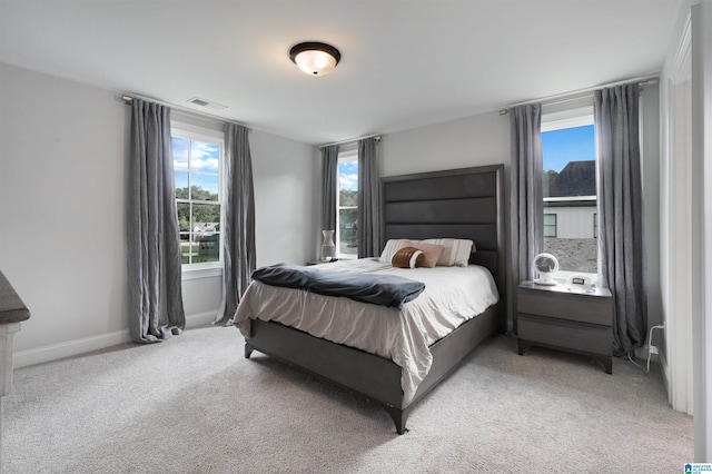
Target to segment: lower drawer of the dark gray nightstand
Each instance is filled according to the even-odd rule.
[[[576,323],[571,320],[518,314],[517,336],[521,339],[534,340],[575,350],[601,355],[613,352],[611,326]]]

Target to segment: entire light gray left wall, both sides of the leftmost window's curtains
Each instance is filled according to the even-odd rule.
[[[0,63],[0,269],[32,313],[17,366],[128,340],[119,96]],[[259,131],[250,145],[258,265],[304,261],[314,147]],[[212,320],[220,277],[187,275],[184,297],[189,325]]]

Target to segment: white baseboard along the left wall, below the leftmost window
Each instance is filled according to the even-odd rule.
[[[216,312],[208,312],[186,316],[186,329],[210,324],[215,320],[216,315]],[[13,354],[12,364],[14,368],[22,368],[65,357],[72,357],[92,350],[106,349],[107,347],[128,343],[130,340],[131,336],[129,329],[115,330],[112,333],[101,334],[98,336],[82,337],[80,339],[51,344],[49,346],[37,347],[33,349],[19,350]]]

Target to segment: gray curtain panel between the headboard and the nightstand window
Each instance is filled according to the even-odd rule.
[[[543,248],[541,105],[533,103],[512,108],[510,110],[510,126],[512,137],[512,280],[518,285],[523,280],[535,277],[532,263]]]

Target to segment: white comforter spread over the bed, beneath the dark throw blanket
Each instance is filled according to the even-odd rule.
[[[403,367],[406,402],[413,399],[431,368],[428,346],[498,299],[492,275],[476,265],[402,269],[375,258],[362,258],[324,265],[323,269],[395,274],[423,282],[425,290],[398,310],[253,282],[235,313],[235,325],[249,337],[253,318],[276,320],[389,358]]]

